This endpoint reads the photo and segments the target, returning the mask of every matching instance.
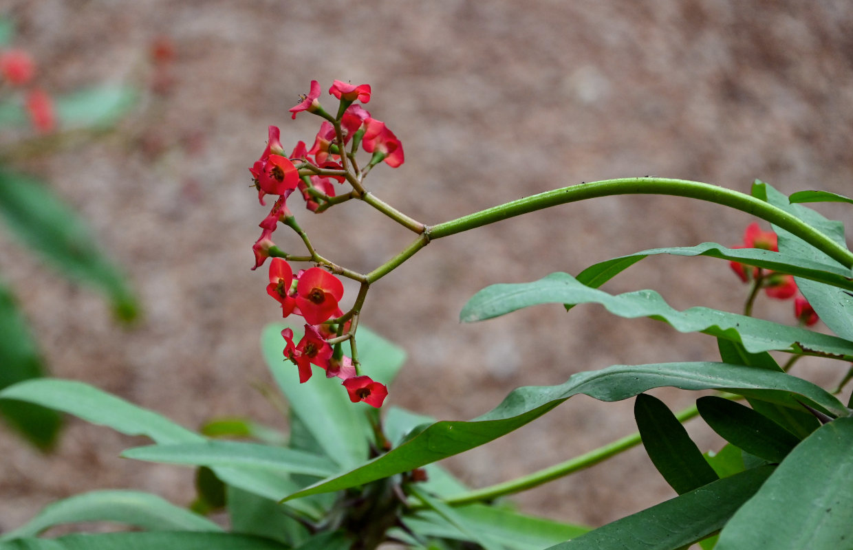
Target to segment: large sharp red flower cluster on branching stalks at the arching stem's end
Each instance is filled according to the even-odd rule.
[[[345,172],[346,164],[345,159],[341,158],[342,154],[354,155],[361,145],[365,151],[373,153],[371,166],[383,160],[392,167],[403,164],[403,146],[397,136],[383,122],[371,118],[370,113],[355,103],[360,101],[366,104],[370,101],[368,84],[356,86],[334,81],[329,94],[340,100],[338,118],[331,117],[323,110],[321,94],[320,84],[316,80],[311,81],[310,92],[300,96],[299,104],[290,109],[293,119],[304,111],[324,119],[314,145],[309,149],[305,147],[305,142],[297,142],[288,156],[281,146],[279,129],[270,126],[264,153],[249,168],[261,205],[265,204],[264,196],[267,194],[278,197],[270,213],[259,223],[262,231],[252,246],[255,255],[252,269],[258,269],[266,258],[270,258],[270,252],[274,252],[273,256],[281,256],[272,240],[280,222],[290,224],[294,229],[298,227],[291,219],[293,213],[287,209],[287,198],[294,190],[299,189],[310,211],[323,211],[330,206],[328,203],[335,196],[334,182],[343,183],[346,177],[352,177],[352,172]],[[349,153],[342,151],[346,146],[351,146]],[[334,345],[329,344],[329,339],[337,338],[350,328],[349,321],[346,321],[343,330],[339,330],[339,323],[344,320],[336,321],[344,316],[339,308],[344,285],[335,275],[321,267],[299,270],[294,275],[293,269],[284,259],[273,258],[270,261],[267,293],[281,304],[282,316],[305,317],[305,335],[299,343],[293,341],[293,330],[287,328],[281,332],[286,341],[284,356],[299,369],[299,382],[310,379],[311,368],[316,365],[326,371],[328,378],[343,380],[352,402],[363,401],[374,407],[382,405],[388,395],[386,386],[374,382],[368,376],[359,376],[351,359],[336,354]]]

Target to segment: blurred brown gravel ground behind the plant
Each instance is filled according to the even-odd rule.
[[[117,326],[98,296],[41,269],[8,236],[0,236],[0,265],[55,375],[185,426],[245,414],[286,427],[252,388],[270,382],[258,334],[277,314],[265,275],[248,269],[265,211],[247,187],[247,166],[267,124],[281,125],[286,148],[313,139],[317,119],[287,114],[312,78],[373,85],[368,107],[403,141],[406,162],[377,168],[368,187],[426,223],[609,177],[742,191],[758,177],[786,193],[851,192],[853,9],[843,0],[4,0],[0,11],[19,22],[16,44],[42,61],[50,90],[150,82],[149,44],[175,43],[165,95],[149,94],[118,132],[20,164],[89,218],[131,274],[144,320]],[[842,206],[820,208],[849,217]],[[359,204],[323,217],[296,212],[322,253],[353,269],[372,269],[410,238]],[[409,352],[390,402],[468,419],[519,385],[616,363],[716,359],[713,339],[598,307],[566,315],[541,306],[473,325],[457,315],[490,283],[577,274],[653,246],[734,244],[750,221],[721,206],[626,196],[432,243],[376,284],[363,310],[365,325]],[[709,258],[652,258],[606,288],[646,287],[680,308],[737,311],[746,296],[728,266]],[[791,310],[763,303],[759,313],[787,322]],[[840,375],[831,363],[798,369],[825,383]],[[673,408],[693,399],[659,395]],[[576,397],[447,466],[474,487],[532,472],[633,431],[631,406]],[[701,426],[689,430],[701,446],[717,444]],[[55,453],[43,455],[0,427],[0,528],[88,489],[144,489],[188,503],[189,469],[118,458],[142,441],[70,420]],[[634,449],[516,501],[599,525],[671,496]]]

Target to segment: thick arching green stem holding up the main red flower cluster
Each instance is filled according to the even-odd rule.
[[[760,217],[770,223],[775,223],[775,225],[797,235],[822,252],[826,252],[828,256],[842,263],[845,267],[853,267],[853,252],[850,252],[844,246],[838,245],[838,243],[827,237],[826,234],[822,234],[798,217],[792,216],[792,214],[776,206],[772,206],[748,194],[718,187],[717,185],[663,177],[624,177],[554,189],[554,191],[535,194],[501,206],[494,206],[483,211],[474,212],[473,214],[450,220],[450,222],[439,223],[438,225],[427,228],[427,231],[430,234],[430,238],[440,239],[441,237],[461,233],[468,229],[499,222],[508,217],[542,210],[549,206],[563,205],[569,202],[577,202],[578,200],[594,199],[595,197],[606,197],[616,194],[668,194],[707,200],[718,205],[730,206],[753,216]]]

